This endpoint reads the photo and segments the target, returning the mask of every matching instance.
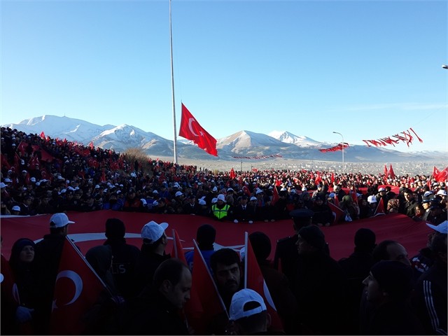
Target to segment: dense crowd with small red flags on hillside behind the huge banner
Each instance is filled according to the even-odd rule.
[[[323,213],[316,221],[329,225],[328,202],[343,209],[349,216],[342,219],[349,221],[374,216],[381,199],[386,213],[431,223],[440,223],[447,211],[447,181],[433,176],[304,169],[211,172],[160,160],[148,163],[143,169],[142,162],[127,162],[113,150],[2,127],[0,214],[113,209],[253,222],[314,208]],[[393,186],[399,193],[393,193]]]

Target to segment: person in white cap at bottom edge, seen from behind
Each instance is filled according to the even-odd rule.
[[[229,321],[228,331],[235,332],[232,335],[260,335],[267,333],[271,318],[261,295],[244,288],[232,297]]]

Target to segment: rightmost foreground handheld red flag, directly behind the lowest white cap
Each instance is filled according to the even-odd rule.
[[[244,245],[246,250],[246,255],[244,255],[244,288],[255,290],[265,301],[267,312],[271,316],[269,331],[283,332],[283,323],[281,323],[280,316],[277,314],[271,293],[269,293],[265,278],[263,278],[260,266],[258,266],[257,258],[255,258],[255,253],[253,253],[247,232],[244,232]]]

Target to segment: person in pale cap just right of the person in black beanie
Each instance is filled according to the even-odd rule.
[[[137,293],[143,290],[153,281],[155,269],[164,261],[171,258],[165,253],[168,244],[168,237],[165,230],[168,223],[148,222],[141,228],[141,238],[143,244],[140,248],[139,259],[136,266],[136,286]]]

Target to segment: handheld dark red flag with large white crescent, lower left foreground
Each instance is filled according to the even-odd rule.
[[[81,335],[84,314],[97,302],[103,281],[67,237],[62,248],[50,318],[51,335]]]

